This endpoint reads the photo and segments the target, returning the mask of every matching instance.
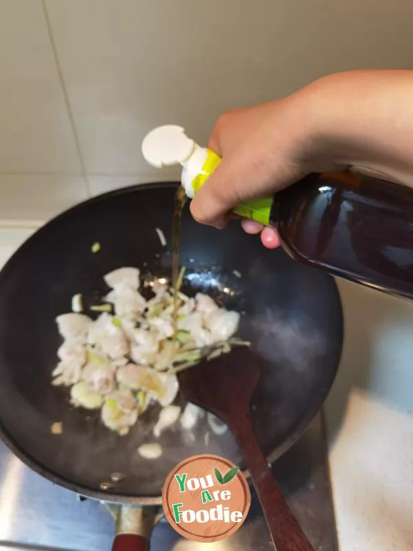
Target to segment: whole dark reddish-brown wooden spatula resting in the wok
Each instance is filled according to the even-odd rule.
[[[215,413],[232,430],[244,455],[277,551],[314,551],[280,492],[255,437],[251,395],[260,379],[255,355],[235,348],[181,373],[180,389],[193,404]]]

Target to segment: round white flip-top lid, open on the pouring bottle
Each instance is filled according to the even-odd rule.
[[[193,153],[195,142],[185,135],[180,126],[166,125],[155,128],[142,142],[142,154],[156,168],[184,165]]]

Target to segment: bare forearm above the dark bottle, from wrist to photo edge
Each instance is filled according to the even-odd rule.
[[[413,187],[413,71],[333,74],[304,96],[320,158]]]

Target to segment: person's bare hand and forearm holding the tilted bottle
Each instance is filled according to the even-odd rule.
[[[410,175],[413,187],[412,90],[410,71],[353,71],[224,114],[209,141],[222,163],[191,202],[193,217],[225,227],[235,205],[270,196],[311,172],[356,167],[407,185]],[[242,227],[262,232],[266,247],[279,245],[273,228],[246,219]]]

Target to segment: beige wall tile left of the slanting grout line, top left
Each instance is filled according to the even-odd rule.
[[[81,165],[42,3],[0,0],[0,172],[47,171]]]

